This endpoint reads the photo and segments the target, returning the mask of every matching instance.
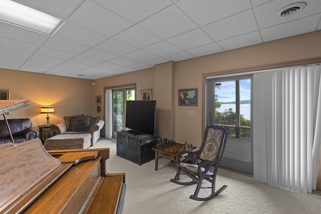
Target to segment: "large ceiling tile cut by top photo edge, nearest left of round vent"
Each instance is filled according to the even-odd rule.
[[[222,20],[251,8],[249,0],[185,0],[177,5],[199,26]]]

